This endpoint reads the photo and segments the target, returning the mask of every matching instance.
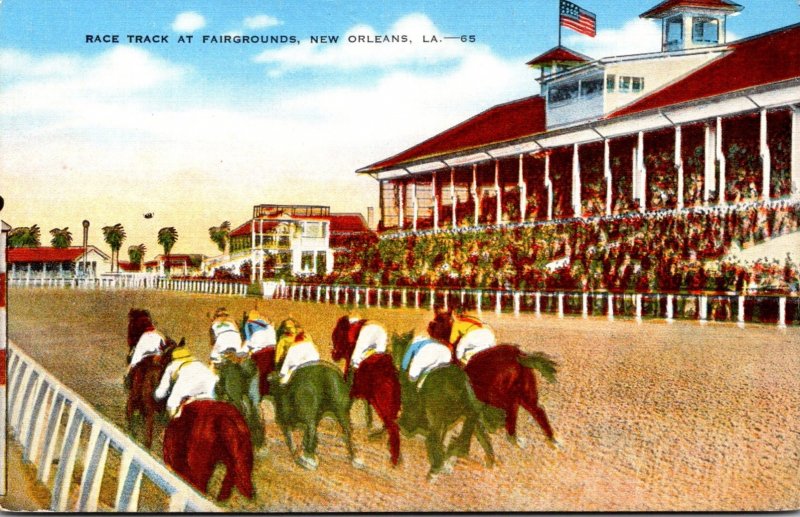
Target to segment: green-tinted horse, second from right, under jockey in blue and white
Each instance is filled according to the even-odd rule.
[[[392,357],[398,369],[412,339],[413,332],[392,335]],[[417,386],[407,375],[400,374],[399,378],[401,395],[406,402],[411,399],[411,390],[416,391]],[[409,418],[408,412],[412,409],[404,404],[399,423],[405,433],[425,436],[430,463],[429,481],[451,469],[450,458],[469,454],[473,433],[483,447],[487,466],[494,464],[494,450],[482,419],[483,404],[475,397],[467,375],[458,365],[451,363],[428,372],[418,393],[419,410],[416,418]],[[445,435],[461,419],[464,420],[461,432],[448,443],[445,450]]]

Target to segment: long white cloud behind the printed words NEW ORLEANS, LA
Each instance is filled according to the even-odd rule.
[[[405,35],[407,43],[351,43],[349,38]],[[386,32],[378,32],[369,25],[351,27],[335,44],[312,44],[301,41],[266,50],[254,61],[272,65],[273,75],[303,68],[333,68],[352,70],[365,67],[392,68],[398,65],[436,64],[463,59],[474,52],[485,52],[482,45],[464,45],[445,40],[442,43],[423,43],[432,36],[445,34],[424,14],[413,13],[400,18]]]

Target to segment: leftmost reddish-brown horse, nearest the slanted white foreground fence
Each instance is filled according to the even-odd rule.
[[[130,363],[133,349],[139,338],[151,328],[153,328],[153,323],[149,312],[142,309],[130,310],[128,313],[128,363]],[[166,409],[166,403],[153,398],[153,392],[161,382],[164,369],[169,364],[170,353],[175,347],[182,346],[184,342],[185,340],[181,339],[180,344],[177,344],[172,338],[165,338],[165,346],[161,354],[150,355],[142,359],[126,378],[128,402],[125,407],[125,419],[128,429],[131,433],[133,432],[133,415],[138,412],[144,420],[144,445],[148,449],[153,445],[155,417]],[[162,360],[162,358],[166,360]]]

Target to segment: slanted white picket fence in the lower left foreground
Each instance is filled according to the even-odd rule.
[[[8,390],[9,430],[22,445],[23,459],[36,466],[38,480],[51,490],[51,510],[135,512],[146,478],[168,498],[168,511],[221,511],[11,343]],[[85,430],[88,441],[82,439]],[[110,449],[120,460],[116,497],[105,508],[99,500]],[[81,452],[83,474],[77,484],[73,472]],[[54,460],[57,470],[51,475]]]

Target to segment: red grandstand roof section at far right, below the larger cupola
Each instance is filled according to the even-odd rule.
[[[800,24],[730,44],[731,51],[606,118],[800,78]]]

